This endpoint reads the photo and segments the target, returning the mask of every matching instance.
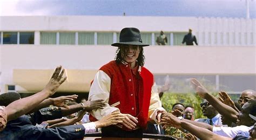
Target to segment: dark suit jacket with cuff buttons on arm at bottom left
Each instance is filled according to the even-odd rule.
[[[0,139],[75,139],[83,138],[84,134],[82,124],[44,129],[32,125],[29,117],[23,115],[7,123],[0,132]]]

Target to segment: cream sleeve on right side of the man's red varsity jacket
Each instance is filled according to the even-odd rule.
[[[154,120],[157,122],[157,113],[158,111],[166,112],[165,109],[162,107],[157,85],[154,83],[151,89],[151,99],[150,99],[150,107],[149,107],[149,120]]]

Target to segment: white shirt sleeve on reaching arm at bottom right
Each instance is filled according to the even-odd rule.
[[[249,137],[249,130],[251,128],[245,125],[240,125],[237,127],[213,127],[212,132],[217,135],[234,138],[238,134],[244,137]]]

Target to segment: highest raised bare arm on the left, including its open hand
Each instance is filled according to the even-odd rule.
[[[15,120],[19,116],[28,113],[31,109],[33,109],[33,107],[36,107],[44,99],[53,95],[59,86],[66,80],[66,77],[63,78],[64,72],[65,69],[62,69],[62,66],[57,67],[50,81],[41,92],[9,104],[6,107],[8,121]]]

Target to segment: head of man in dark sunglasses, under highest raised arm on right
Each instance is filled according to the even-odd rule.
[[[207,100],[204,100],[203,103],[200,103],[200,107],[202,108],[203,115],[207,118],[212,119],[218,115],[218,111]]]

